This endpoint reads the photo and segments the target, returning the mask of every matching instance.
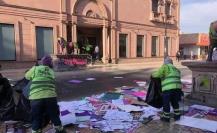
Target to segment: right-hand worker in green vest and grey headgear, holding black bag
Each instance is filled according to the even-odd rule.
[[[163,96],[163,115],[162,121],[170,121],[170,103],[174,110],[174,119],[180,119],[179,101],[181,100],[181,74],[173,65],[172,59],[167,57],[164,64],[158,71],[152,74],[154,78],[161,78],[162,96]]]

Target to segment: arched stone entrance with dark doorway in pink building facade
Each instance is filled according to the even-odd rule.
[[[108,29],[106,19],[108,18],[106,9],[98,0],[78,0],[75,3],[73,14],[76,15],[76,41],[82,48],[90,44],[92,49],[88,54],[93,55],[96,45],[99,46],[100,55],[103,59],[108,56]],[[76,28],[75,28],[76,26]],[[85,51],[81,50],[81,53]]]

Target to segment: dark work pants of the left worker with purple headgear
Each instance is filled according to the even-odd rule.
[[[31,100],[32,130],[42,129],[43,114],[46,113],[54,126],[61,126],[59,106],[56,98]]]

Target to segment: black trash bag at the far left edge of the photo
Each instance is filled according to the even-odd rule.
[[[7,78],[0,77],[0,121],[12,120],[15,103],[13,90]]]

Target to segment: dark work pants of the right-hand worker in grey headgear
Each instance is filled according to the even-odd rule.
[[[166,115],[170,113],[170,104],[175,114],[179,114],[179,101],[181,100],[181,90],[174,89],[163,92],[163,111]]]

